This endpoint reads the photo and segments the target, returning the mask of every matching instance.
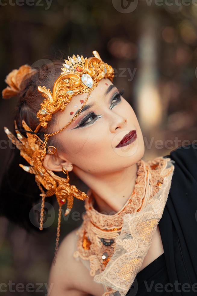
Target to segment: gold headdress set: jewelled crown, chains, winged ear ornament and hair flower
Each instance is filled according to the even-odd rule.
[[[41,108],[37,112],[37,118],[40,122],[34,131],[31,130],[24,120],[22,120],[22,126],[24,128],[23,131],[26,133],[26,137],[20,133],[20,129],[18,129],[16,121],[14,121],[14,127],[17,137],[15,137],[7,127],[4,127],[8,138],[17,147],[17,149],[20,150],[20,155],[30,165],[24,166],[19,164],[19,166],[26,172],[35,175],[36,184],[41,191],[40,196],[42,197],[42,204],[40,212],[40,230],[43,229],[45,198],[54,194],[56,195],[59,211],[55,256],[53,259],[54,264],[56,262],[59,246],[62,206],[66,204],[67,201],[67,208],[64,214],[66,216],[71,211],[74,197],[80,200],[85,200],[88,196],[85,192],[78,190],[75,185],[70,185],[68,183],[70,178],[66,167],[62,168],[62,171],[67,175],[67,178],[65,179],[46,169],[43,165],[43,161],[46,154],[54,154],[57,151],[57,148],[54,146],[48,146],[47,149],[48,137],[58,134],[75,120],[86,104],[93,88],[98,85],[98,82],[102,78],[108,78],[111,82],[113,82],[114,69],[101,60],[99,53],[96,50],[92,53],[94,56],[89,57],[88,59],[84,58],[82,55],[77,55],[77,57],[73,55],[72,57],[69,56],[68,60],[64,60],[65,63],[63,64],[63,68],[61,68],[61,75],[55,80],[52,92],[45,86],[38,86],[38,91],[45,99],[40,104]],[[12,72],[6,76],[5,82],[9,86],[2,91],[2,97],[4,99],[8,99],[19,95],[22,90],[22,82],[24,79],[30,78],[35,73],[37,73],[37,71],[28,65],[22,65],[19,69],[12,70]],[[41,126],[46,128],[48,121],[52,119],[52,115],[54,113],[57,111],[64,111],[67,104],[72,100],[72,97],[82,93],[88,93],[88,95],[77,114],[60,130],[52,134],[44,134],[43,142],[37,135],[39,128]],[[45,188],[46,191],[44,191],[43,188]]]

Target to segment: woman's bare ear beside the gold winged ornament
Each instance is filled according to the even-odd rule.
[[[63,166],[67,168],[68,172],[73,169],[72,163],[63,156],[60,157],[57,152],[51,155],[46,154],[43,164],[46,169],[55,172],[61,172]]]

